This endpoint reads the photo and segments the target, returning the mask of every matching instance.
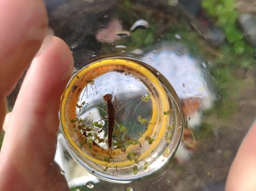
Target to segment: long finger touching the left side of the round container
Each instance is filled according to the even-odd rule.
[[[15,174],[5,176],[4,182],[15,179],[23,180],[15,184],[24,184],[30,174],[31,181],[35,176],[50,177],[52,173],[60,97],[73,73],[73,58],[68,46],[56,37],[44,49],[27,72],[6,128],[0,174]],[[27,177],[23,177],[26,172]]]

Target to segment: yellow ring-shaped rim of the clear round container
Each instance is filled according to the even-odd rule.
[[[90,80],[93,80],[99,75],[103,75],[107,73],[109,70],[105,70],[106,68],[132,68],[133,72],[136,71],[137,74],[140,74],[144,76],[145,81],[144,83],[150,83],[153,84],[157,95],[157,100],[161,100],[160,107],[162,107],[160,112],[168,111],[170,109],[170,105],[168,103],[166,94],[166,91],[162,86],[160,86],[159,79],[157,76],[152,74],[151,71],[148,70],[148,68],[145,68],[144,66],[141,66],[141,64],[133,62],[132,60],[128,59],[122,59],[122,58],[112,58],[112,59],[105,59],[100,60],[98,62],[90,64],[88,67],[83,68],[81,71],[79,71],[73,78],[70,80],[68,87],[66,87],[66,90],[62,96],[61,100],[61,110],[60,110],[60,117],[61,117],[61,124],[62,128],[64,130],[66,139],[68,139],[70,145],[72,145],[73,149],[75,149],[82,157],[89,161],[96,162],[96,164],[100,165],[108,165],[108,166],[127,166],[127,165],[133,165],[135,164],[134,161],[121,161],[121,162],[105,162],[102,160],[98,160],[87,153],[85,153],[76,143],[75,140],[73,140],[72,135],[70,135],[70,132],[72,131],[72,124],[71,120],[76,119],[76,103],[78,101],[78,98],[80,96],[81,91],[83,90],[86,85],[91,82]],[[72,97],[72,99],[70,98]],[[157,113],[159,112],[159,108],[157,108],[157,100],[154,99],[153,96],[151,96],[152,100],[152,118],[148,125],[147,131],[144,133],[143,137],[140,137],[139,141],[145,141],[145,136],[152,136],[157,135],[156,139],[153,141],[153,143],[148,147],[147,151],[141,153],[139,160],[146,159],[149,155],[151,155],[152,151],[154,151],[157,147],[157,145],[160,143],[162,139],[164,139],[164,135],[167,130],[168,125],[168,115],[163,115],[163,113]],[[68,110],[68,111],[67,111]],[[68,112],[68,119],[66,119],[66,113]],[[156,124],[160,123],[159,128],[157,129]],[[70,127],[69,127],[70,125]],[[127,148],[127,151],[134,147],[133,145],[129,145]],[[100,151],[99,151],[100,152]],[[116,153],[118,154],[118,152]],[[115,154],[115,155],[116,155]],[[112,155],[112,157],[115,157],[115,155]]]

